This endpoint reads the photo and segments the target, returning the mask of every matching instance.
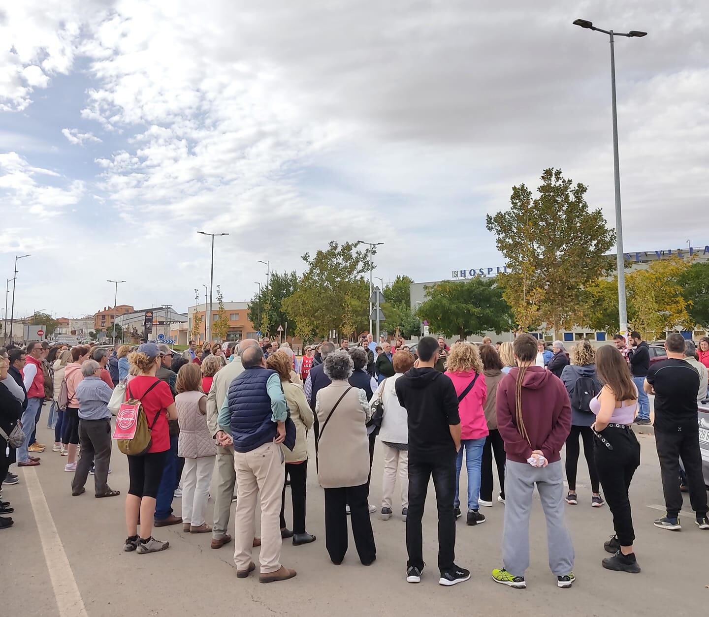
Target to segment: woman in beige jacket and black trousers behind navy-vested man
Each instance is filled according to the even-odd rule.
[[[315,536],[306,532],[306,478],[308,477],[308,431],[313,426],[313,410],[308,404],[303,388],[291,382],[293,362],[290,356],[282,350],[272,353],[266,364],[281,377],[281,387],[291,420],[296,425],[296,445],[291,452],[283,447],[286,458],[286,475],[284,480],[291,479],[291,499],[293,501],[293,531],[286,528],[284,509],[286,506],[286,484],[281,494],[281,538],[293,536],[295,546],[315,541]]]

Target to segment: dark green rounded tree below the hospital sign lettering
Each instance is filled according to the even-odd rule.
[[[510,307],[493,278],[443,281],[425,291],[428,300],[417,315],[428,320],[432,332],[467,339],[489,331],[500,334],[510,327]]]

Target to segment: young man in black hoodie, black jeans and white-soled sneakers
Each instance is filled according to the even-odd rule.
[[[418,583],[423,572],[421,519],[428,481],[433,477],[438,506],[439,583],[454,585],[470,578],[455,559],[455,458],[460,448],[458,397],[453,382],[435,370],[439,358],[436,339],[424,336],[418,361],[395,389],[408,414],[408,516],[406,517],[406,580]]]

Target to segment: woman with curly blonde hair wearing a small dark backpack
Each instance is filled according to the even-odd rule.
[[[591,424],[596,417],[591,413],[591,400],[601,392],[601,382],[596,375],[596,351],[588,341],[579,341],[571,348],[571,364],[564,366],[562,381],[571,401],[571,432],[566,438],[566,482],[569,493],[566,503],[576,505],[576,469],[579,465],[579,436],[584,442],[584,456],[591,476],[591,506],[603,506],[596,463],[593,462],[593,431]]]

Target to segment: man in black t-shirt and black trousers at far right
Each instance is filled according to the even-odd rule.
[[[654,525],[671,530],[682,528],[679,522],[682,494],[677,483],[681,457],[696,523],[700,529],[709,529],[697,423],[699,374],[683,359],[681,334],[667,336],[665,349],[667,359],[650,367],[644,383],[645,392],[655,395],[655,445],[667,509],[667,516],[654,521]]]

